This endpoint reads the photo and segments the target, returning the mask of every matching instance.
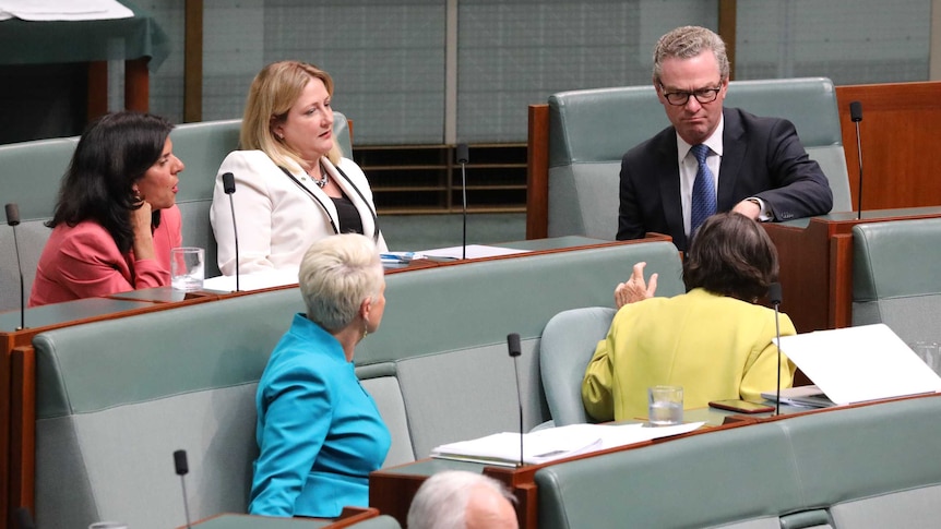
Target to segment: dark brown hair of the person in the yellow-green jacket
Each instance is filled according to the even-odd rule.
[[[693,237],[683,263],[687,290],[754,302],[777,280],[777,250],[764,228],[745,215],[719,213],[707,218]]]

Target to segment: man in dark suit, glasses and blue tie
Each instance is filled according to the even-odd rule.
[[[728,74],[725,44],[710,29],[686,26],[660,37],[653,81],[672,125],[621,160],[618,240],[655,231],[684,251],[718,212],[767,221],[833,207],[826,177],[793,123],[723,109]]]

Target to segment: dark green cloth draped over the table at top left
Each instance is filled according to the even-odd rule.
[[[167,34],[146,11],[122,1],[132,19],[0,22],[0,64],[52,64],[150,57],[156,70],[170,55]]]

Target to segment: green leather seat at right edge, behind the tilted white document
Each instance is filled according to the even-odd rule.
[[[941,341],[941,218],[853,227],[853,325],[884,323],[907,344]]]

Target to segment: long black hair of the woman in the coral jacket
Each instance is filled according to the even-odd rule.
[[[150,113],[123,111],[103,116],[82,133],[59,188],[52,219],[46,226],[100,224],[121,253],[131,250],[130,212],[141,207],[133,185],[159,158],[174,125]],[[154,226],[159,211],[154,212]]]

